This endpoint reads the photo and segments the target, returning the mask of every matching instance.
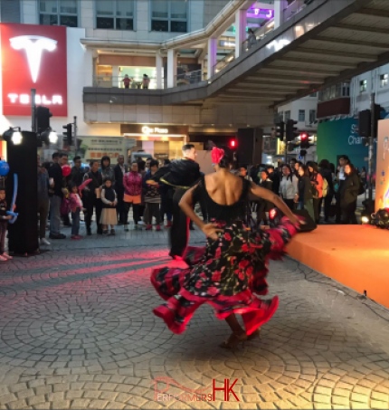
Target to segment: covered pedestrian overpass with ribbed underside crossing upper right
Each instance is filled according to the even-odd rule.
[[[85,87],[83,100],[274,109],[389,62],[388,27],[387,0],[313,0],[205,81],[164,90]],[[180,37],[161,49],[178,47]]]

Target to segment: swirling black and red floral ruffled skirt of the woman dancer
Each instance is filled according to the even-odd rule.
[[[223,229],[218,240],[208,238],[204,248],[186,250],[189,268],[157,268],[151,274],[151,282],[166,300],[153,311],[174,333],[184,332],[203,303],[213,306],[218,319],[242,314],[248,335],[270,319],[269,306],[254,293],[268,293],[269,259],[280,259],[297,228],[285,217],[279,227],[267,231],[251,231],[241,221],[216,224]],[[276,305],[278,299],[273,300],[272,313]]]

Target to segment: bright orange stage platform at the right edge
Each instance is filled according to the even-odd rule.
[[[370,225],[319,225],[298,234],[289,255],[389,308],[389,231]]]

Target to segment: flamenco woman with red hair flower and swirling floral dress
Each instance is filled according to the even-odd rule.
[[[185,331],[194,311],[209,303],[218,319],[225,319],[232,335],[220,345],[236,348],[247,338],[258,336],[260,327],[275,313],[278,297],[261,300],[268,285],[265,280],[269,259],[280,259],[285,244],[297,233],[299,219],[278,195],[234,176],[231,159],[221,148],[213,148],[215,173],[203,176],[181,199],[181,209],[207,236],[202,252],[188,248],[187,269],[158,268],[151,282],[166,303],[154,309],[176,334]],[[272,202],[286,215],[280,226],[267,231],[248,229],[244,224],[249,193]],[[212,223],[205,224],[194,214],[193,205],[203,201]],[[254,294],[255,293],[255,294]],[[242,315],[245,330],[235,314]]]

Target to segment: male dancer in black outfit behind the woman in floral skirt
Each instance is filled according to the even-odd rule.
[[[186,144],[183,148],[183,159],[179,159],[164,167],[163,176],[158,171],[153,177],[163,184],[173,186],[173,224],[170,229],[170,253],[173,259],[180,259],[188,243],[189,218],[178,205],[185,192],[200,179],[200,166],[194,162],[197,153],[194,145]],[[160,168],[162,169],[162,168]]]

